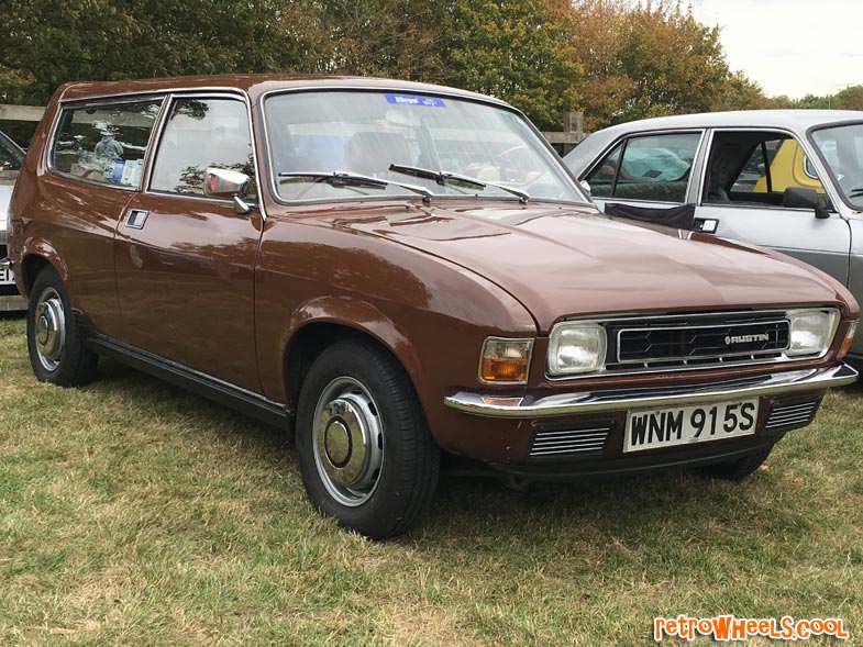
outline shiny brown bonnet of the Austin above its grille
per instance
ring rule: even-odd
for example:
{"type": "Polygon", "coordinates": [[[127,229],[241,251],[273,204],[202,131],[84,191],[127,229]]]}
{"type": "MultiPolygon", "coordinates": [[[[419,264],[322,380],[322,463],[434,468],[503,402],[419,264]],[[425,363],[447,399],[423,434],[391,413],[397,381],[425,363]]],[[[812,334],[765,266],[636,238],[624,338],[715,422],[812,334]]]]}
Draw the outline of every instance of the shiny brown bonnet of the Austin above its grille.
{"type": "Polygon", "coordinates": [[[589,208],[428,205],[339,219],[494,281],[543,332],[569,316],[839,303],[826,275],[754,247],[589,208]]]}

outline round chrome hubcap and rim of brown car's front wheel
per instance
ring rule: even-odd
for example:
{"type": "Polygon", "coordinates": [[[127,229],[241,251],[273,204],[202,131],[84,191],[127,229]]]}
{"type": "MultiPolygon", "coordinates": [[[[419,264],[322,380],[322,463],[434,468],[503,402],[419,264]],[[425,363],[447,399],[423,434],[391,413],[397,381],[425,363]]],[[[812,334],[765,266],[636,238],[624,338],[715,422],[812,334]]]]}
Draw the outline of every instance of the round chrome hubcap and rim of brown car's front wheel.
{"type": "Polygon", "coordinates": [[[384,466],[378,409],[353,378],[330,382],[314,410],[314,462],[329,493],[343,505],[365,503],[384,466]]]}

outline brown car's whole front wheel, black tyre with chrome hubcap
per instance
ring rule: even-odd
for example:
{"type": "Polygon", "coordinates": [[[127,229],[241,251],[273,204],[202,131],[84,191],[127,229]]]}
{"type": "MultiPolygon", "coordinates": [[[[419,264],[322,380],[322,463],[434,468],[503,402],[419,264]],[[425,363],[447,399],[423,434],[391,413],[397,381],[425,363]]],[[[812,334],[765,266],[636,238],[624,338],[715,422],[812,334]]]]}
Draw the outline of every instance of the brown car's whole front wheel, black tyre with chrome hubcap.
{"type": "Polygon", "coordinates": [[[438,486],[440,450],[389,353],[363,342],[321,353],[300,390],[296,431],[306,492],[323,515],[370,539],[419,522],[438,486]]]}

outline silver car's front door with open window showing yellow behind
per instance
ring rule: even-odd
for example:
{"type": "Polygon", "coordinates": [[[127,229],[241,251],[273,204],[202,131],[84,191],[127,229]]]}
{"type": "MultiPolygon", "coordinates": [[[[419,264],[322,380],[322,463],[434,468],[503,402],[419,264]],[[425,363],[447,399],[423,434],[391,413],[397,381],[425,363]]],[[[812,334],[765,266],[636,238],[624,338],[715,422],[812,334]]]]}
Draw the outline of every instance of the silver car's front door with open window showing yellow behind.
{"type": "Polygon", "coordinates": [[[711,133],[696,222],[717,236],[783,252],[848,285],[851,230],[839,213],[796,208],[789,189],[825,188],[793,134],[772,130],[711,133]]]}

